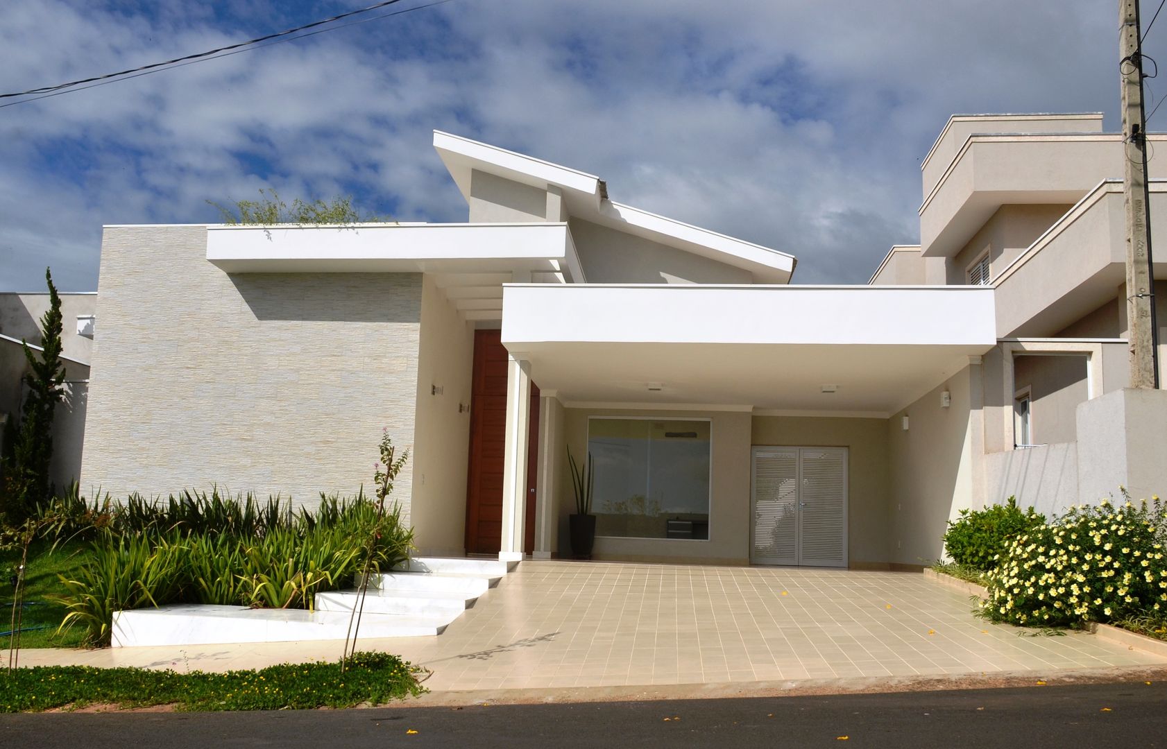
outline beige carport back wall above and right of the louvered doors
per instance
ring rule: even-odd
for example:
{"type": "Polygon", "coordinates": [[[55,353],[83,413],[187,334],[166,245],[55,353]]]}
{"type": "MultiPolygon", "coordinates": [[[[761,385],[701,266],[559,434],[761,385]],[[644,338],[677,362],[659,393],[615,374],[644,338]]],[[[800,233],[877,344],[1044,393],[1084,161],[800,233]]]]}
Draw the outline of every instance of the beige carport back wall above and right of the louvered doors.
{"type": "Polygon", "coordinates": [[[888,536],[887,419],[754,416],[753,444],[846,447],[847,562],[886,565],[888,536]]]}

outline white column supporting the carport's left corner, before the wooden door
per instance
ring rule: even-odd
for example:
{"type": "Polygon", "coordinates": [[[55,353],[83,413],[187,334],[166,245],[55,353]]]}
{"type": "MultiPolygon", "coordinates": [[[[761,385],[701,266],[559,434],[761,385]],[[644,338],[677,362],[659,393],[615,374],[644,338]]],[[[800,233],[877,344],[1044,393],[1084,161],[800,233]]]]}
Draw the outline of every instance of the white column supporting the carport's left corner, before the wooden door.
{"type": "Polygon", "coordinates": [[[526,450],[531,411],[530,364],[506,356],[506,442],[503,455],[503,538],[498,559],[523,561],[526,450]]]}

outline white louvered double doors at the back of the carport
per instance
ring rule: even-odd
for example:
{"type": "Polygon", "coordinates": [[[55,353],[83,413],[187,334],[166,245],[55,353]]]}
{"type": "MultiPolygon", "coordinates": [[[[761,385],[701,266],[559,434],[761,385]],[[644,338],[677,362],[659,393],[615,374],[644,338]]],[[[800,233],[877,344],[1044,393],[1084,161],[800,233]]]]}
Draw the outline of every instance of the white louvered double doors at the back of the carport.
{"type": "Polygon", "coordinates": [[[755,447],[749,561],[847,566],[847,448],[755,447]]]}

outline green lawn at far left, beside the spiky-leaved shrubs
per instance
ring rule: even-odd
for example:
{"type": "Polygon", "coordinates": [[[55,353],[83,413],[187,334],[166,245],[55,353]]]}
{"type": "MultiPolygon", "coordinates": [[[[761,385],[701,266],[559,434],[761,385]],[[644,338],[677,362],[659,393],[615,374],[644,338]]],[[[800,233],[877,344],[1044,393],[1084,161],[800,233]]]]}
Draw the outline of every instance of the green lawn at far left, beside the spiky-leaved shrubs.
{"type": "MultiPolygon", "coordinates": [[[[53,596],[63,593],[57,575],[72,575],[85,560],[88,544],[74,542],[58,547],[50,552],[51,544],[37,541],[28,551],[28,572],[25,575],[25,614],[22,628],[26,629],[20,636],[20,646],[23,648],[76,648],[81,645],[84,629],[75,626],[72,630],[57,635],[57,626],[64,618],[65,608],[51,600],[53,596]],[[42,629],[30,629],[42,628],[42,629]]],[[[4,579],[0,580],[0,632],[7,632],[12,628],[12,602],[13,588],[9,580],[9,566],[20,561],[20,553],[16,551],[0,553],[0,570],[4,570],[4,579]]],[[[5,635],[0,637],[0,650],[8,649],[12,637],[5,635]]]]}

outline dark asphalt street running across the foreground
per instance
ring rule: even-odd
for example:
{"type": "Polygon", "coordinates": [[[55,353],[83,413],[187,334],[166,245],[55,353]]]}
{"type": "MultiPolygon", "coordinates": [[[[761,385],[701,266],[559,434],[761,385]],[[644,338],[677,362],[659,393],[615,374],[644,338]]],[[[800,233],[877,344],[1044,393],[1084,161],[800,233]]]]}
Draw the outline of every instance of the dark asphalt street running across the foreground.
{"type": "Polygon", "coordinates": [[[1167,682],[275,713],[0,716],[0,747],[1167,747],[1167,682]]]}

